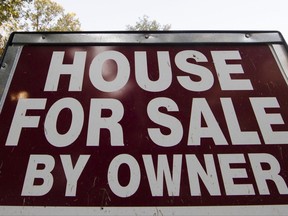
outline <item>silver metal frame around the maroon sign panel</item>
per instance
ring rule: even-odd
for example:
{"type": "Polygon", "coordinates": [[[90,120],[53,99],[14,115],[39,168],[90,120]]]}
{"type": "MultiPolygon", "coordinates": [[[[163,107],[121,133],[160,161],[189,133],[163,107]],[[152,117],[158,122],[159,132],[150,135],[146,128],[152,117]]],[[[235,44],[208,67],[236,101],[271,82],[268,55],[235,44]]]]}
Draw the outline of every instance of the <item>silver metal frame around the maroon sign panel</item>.
{"type": "MultiPolygon", "coordinates": [[[[25,46],[227,46],[237,44],[268,45],[288,85],[287,44],[281,33],[277,31],[15,32],[9,39],[1,62],[0,113],[25,46]]],[[[1,168],[2,164],[0,170],[1,168]]],[[[3,215],[286,215],[287,211],[288,202],[227,206],[0,206],[0,214],[3,215]]]]}

